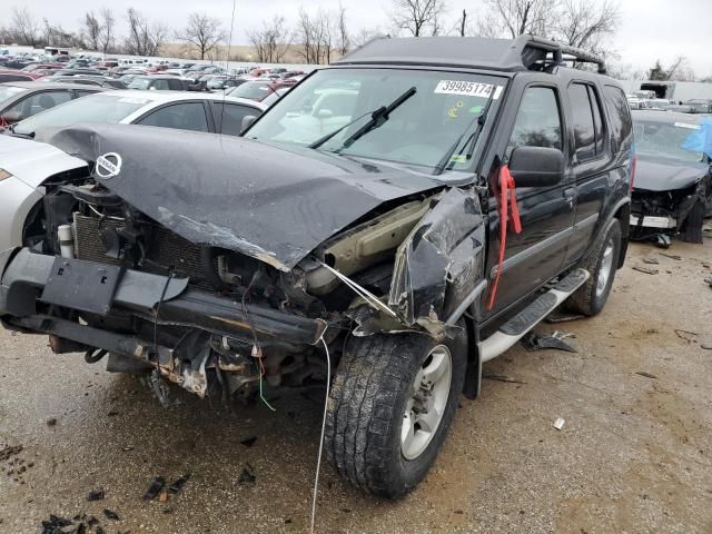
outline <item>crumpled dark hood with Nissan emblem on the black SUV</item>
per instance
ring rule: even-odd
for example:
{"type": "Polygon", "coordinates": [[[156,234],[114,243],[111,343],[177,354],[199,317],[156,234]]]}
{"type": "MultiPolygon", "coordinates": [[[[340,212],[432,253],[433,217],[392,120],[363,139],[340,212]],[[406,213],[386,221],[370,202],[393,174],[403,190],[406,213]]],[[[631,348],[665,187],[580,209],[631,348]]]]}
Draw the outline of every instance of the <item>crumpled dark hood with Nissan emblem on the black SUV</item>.
{"type": "Polygon", "coordinates": [[[165,128],[85,125],[48,142],[90,162],[118,155],[95,168],[98,182],[192,243],[281,270],[380,204],[442,187],[400,168],[165,128]]]}

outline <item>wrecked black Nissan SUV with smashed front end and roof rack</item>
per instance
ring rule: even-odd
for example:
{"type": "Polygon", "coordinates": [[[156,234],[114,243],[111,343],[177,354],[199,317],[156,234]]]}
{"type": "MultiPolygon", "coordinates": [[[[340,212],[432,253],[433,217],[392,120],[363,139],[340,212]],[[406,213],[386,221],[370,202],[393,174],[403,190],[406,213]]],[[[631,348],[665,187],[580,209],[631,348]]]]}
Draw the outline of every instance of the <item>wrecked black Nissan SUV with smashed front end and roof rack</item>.
{"type": "Polygon", "coordinates": [[[49,142],[87,166],[0,254],[6,327],[165,404],[166,383],[228,404],[330,384],[327,455],[379,496],[423,478],[484,362],[561,304],[600,313],[625,258],[625,95],[530,36],[370,41],[245,138],[49,142]]]}

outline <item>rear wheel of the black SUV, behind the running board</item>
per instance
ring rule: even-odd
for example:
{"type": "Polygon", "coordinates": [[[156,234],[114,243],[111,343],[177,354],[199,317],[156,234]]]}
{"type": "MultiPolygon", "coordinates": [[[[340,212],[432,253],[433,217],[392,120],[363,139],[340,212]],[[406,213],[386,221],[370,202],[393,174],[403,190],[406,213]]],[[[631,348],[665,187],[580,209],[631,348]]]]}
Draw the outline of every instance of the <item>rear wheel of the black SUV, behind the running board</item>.
{"type": "Polygon", "coordinates": [[[578,265],[591,277],[566,299],[566,309],[589,317],[601,313],[611,294],[620,254],[621,222],[614,218],[578,265]]]}

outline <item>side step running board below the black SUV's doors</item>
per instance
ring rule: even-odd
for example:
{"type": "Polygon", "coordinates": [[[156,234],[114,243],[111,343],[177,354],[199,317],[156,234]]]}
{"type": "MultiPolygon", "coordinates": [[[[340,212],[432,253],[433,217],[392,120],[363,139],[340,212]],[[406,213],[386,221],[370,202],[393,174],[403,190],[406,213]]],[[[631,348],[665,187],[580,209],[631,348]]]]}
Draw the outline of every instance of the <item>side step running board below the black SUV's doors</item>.
{"type": "Polygon", "coordinates": [[[497,332],[479,343],[479,362],[490,362],[511,348],[544,317],[551,314],[556,306],[578,289],[590,276],[585,269],[573,270],[556,286],[520,312],[518,315],[512,317],[497,332]]]}

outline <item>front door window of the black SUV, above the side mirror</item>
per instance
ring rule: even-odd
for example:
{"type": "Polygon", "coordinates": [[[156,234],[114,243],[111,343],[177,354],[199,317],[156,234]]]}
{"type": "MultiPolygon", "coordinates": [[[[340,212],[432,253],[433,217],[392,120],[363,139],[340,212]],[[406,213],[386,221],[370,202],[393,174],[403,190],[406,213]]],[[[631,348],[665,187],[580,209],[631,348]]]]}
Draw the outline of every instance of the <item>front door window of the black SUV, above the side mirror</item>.
{"type": "Polygon", "coordinates": [[[562,150],[561,112],[551,87],[530,87],[516,113],[506,158],[516,147],[548,147],[562,150]]]}

